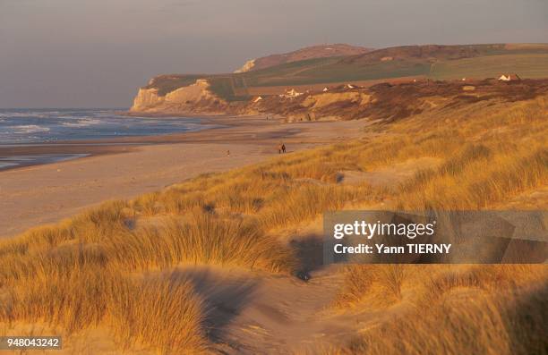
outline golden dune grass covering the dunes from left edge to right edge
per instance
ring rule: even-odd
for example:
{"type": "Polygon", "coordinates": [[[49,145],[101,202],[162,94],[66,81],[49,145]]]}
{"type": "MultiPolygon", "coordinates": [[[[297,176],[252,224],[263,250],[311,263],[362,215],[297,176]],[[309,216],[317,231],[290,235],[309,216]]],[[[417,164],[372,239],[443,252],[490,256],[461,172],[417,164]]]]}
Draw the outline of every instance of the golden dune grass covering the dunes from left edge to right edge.
{"type": "MultiPolygon", "coordinates": [[[[180,263],[294,273],[301,261],[280,231],[311,221],[322,211],[381,201],[387,208],[483,209],[546,186],[546,97],[514,103],[500,98],[457,106],[451,100],[441,103],[397,123],[373,127],[364,139],[203,175],[2,241],[0,321],[46,322],[61,326],[67,334],[99,325],[111,329],[120,347],[144,344],[158,352],[167,348],[176,353],[200,352],[207,347],[206,312],[192,285],[170,274],[180,263]],[[390,189],[366,182],[338,183],[341,171],[367,172],[421,156],[437,157],[442,164],[390,189]]],[[[532,207],[545,208],[545,203],[532,207]]],[[[398,304],[405,285],[415,284],[415,279],[383,267],[378,270],[380,281],[374,277],[372,281],[389,290],[390,297],[383,298],[388,306],[398,304]]],[[[445,274],[440,270],[432,278],[436,288],[429,283],[421,286],[427,298],[411,300],[418,305],[431,305],[433,298],[457,302],[451,310],[454,322],[440,317],[445,303],[436,303],[440,307],[422,309],[421,317],[404,313],[388,322],[387,330],[372,329],[341,351],[398,353],[408,347],[409,353],[448,349],[485,353],[496,343],[496,353],[509,354],[526,353],[527,342],[531,346],[542,342],[539,334],[544,329],[537,318],[522,322],[521,313],[509,312],[513,304],[526,308],[524,315],[545,311],[545,304],[536,301],[545,292],[545,266],[534,276],[530,269],[508,266],[473,270],[473,276],[465,273],[461,278],[458,270],[448,268],[449,280],[456,281],[441,283],[445,274]],[[503,290],[508,294],[498,292],[497,280],[506,280],[503,290]],[[456,288],[465,288],[465,295],[453,299],[456,288]],[[466,305],[467,300],[473,302],[464,308],[462,302],[466,305]],[[476,323],[478,317],[482,323],[476,323]],[[400,324],[420,329],[423,336],[415,337],[400,324]],[[466,329],[477,329],[477,324],[486,335],[469,342],[466,329]],[[501,329],[505,333],[497,335],[501,329]],[[441,330],[453,336],[448,335],[446,342],[428,336],[441,330]],[[390,336],[375,333],[383,331],[390,336]],[[372,339],[379,337],[383,342],[372,347],[372,339]],[[470,344],[475,348],[470,349],[470,344]]],[[[362,284],[369,274],[361,271],[348,270],[347,283],[336,300],[339,309],[360,304],[370,292],[369,283],[362,284]]],[[[415,266],[414,273],[423,280],[434,275],[424,266],[415,266]]]]}

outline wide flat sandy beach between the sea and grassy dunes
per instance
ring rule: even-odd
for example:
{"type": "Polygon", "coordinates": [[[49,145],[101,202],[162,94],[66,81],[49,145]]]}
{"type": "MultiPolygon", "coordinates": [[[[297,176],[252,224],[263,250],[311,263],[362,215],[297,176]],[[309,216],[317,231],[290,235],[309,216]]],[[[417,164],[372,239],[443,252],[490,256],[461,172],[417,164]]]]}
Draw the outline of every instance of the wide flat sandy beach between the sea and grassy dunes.
{"type": "Polygon", "coordinates": [[[278,156],[280,141],[288,154],[346,141],[357,137],[366,124],[282,123],[264,117],[216,117],[204,122],[221,127],[167,136],[0,148],[0,156],[90,154],[1,171],[0,238],[55,223],[108,199],[132,199],[200,173],[258,163],[278,156]]]}

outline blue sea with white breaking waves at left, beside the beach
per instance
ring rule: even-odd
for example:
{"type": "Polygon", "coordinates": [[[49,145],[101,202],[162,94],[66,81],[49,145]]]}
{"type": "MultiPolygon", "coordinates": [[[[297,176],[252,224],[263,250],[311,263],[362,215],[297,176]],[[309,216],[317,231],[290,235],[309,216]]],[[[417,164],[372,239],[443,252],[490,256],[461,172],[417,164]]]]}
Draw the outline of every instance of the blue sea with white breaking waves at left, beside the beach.
{"type": "MultiPolygon", "coordinates": [[[[65,140],[156,136],[209,128],[197,117],[136,117],[126,109],[0,109],[0,148],[65,140]]],[[[1,152],[1,150],[0,150],[1,152]]],[[[81,154],[2,156],[0,170],[78,158],[81,154]]]]}

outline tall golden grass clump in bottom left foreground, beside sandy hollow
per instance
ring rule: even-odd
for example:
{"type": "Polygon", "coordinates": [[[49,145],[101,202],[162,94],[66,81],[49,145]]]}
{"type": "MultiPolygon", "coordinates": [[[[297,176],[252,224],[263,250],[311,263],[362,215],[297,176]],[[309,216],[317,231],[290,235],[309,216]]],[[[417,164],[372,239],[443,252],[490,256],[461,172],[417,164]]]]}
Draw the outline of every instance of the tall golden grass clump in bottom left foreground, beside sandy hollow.
{"type": "Polygon", "coordinates": [[[121,348],[207,350],[202,302],[184,279],[122,273],[94,245],[67,245],[35,255],[29,266],[32,270],[25,269],[16,280],[4,278],[4,323],[60,326],[67,336],[104,326],[121,348]]]}

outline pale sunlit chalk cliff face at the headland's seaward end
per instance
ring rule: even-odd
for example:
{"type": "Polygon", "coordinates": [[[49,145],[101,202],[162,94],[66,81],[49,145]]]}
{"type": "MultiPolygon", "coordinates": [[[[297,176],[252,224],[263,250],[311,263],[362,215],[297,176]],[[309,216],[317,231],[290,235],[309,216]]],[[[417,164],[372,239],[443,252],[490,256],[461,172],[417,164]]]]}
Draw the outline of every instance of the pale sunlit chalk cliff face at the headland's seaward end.
{"type": "Polygon", "coordinates": [[[133,99],[132,114],[222,114],[227,102],[212,94],[208,80],[196,80],[192,85],[158,95],[156,88],[141,88],[133,99]]]}

